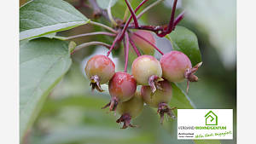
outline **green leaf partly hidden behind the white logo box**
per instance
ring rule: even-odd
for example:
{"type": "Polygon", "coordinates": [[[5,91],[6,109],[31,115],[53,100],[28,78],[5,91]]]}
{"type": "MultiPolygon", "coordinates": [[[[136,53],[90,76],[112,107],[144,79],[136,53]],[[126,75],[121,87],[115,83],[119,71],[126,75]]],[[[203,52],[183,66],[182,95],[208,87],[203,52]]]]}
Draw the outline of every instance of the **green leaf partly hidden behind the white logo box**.
{"type": "MultiPolygon", "coordinates": [[[[172,101],[170,103],[171,107],[177,107],[180,109],[193,109],[195,105],[190,101],[189,96],[180,89],[177,84],[172,83],[172,101]]],[[[177,114],[177,110],[175,110],[177,114]]],[[[177,127],[177,124],[175,124],[177,127]]],[[[171,128],[170,128],[171,129],[171,128]]],[[[177,130],[175,129],[177,133],[177,130]]],[[[218,140],[194,140],[195,144],[220,144],[218,140]]]]}

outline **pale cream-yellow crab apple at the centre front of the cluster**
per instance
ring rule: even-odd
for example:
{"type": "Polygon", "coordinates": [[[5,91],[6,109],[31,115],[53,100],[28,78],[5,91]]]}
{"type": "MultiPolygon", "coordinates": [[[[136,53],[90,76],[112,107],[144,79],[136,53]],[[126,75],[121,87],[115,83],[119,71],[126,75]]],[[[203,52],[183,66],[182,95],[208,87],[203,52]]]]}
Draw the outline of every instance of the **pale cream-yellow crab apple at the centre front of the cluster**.
{"type": "Polygon", "coordinates": [[[156,89],[160,89],[159,82],[163,80],[162,69],[159,60],[156,60],[154,56],[137,57],[132,63],[131,72],[137,84],[149,85],[153,93],[156,89]]]}

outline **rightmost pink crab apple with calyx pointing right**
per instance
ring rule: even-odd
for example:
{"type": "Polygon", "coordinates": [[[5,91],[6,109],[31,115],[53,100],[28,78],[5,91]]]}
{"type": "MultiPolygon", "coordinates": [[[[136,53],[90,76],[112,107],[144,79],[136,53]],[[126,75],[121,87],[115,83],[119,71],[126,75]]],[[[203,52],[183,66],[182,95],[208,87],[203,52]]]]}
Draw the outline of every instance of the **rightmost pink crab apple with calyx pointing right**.
{"type": "Polygon", "coordinates": [[[198,81],[194,73],[201,66],[202,62],[192,67],[191,61],[187,55],[184,55],[180,51],[173,50],[161,57],[160,64],[163,71],[163,78],[166,78],[168,81],[182,82],[186,78],[188,80],[188,92],[189,82],[198,81]]]}

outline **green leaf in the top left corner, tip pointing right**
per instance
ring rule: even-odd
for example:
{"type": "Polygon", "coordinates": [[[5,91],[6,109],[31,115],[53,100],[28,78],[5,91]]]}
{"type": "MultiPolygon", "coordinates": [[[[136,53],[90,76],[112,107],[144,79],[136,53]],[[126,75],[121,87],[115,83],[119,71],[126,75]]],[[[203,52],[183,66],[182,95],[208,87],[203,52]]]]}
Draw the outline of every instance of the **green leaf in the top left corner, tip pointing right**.
{"type": "Polygon", "coordinates": [[[20,40],[68,30],[89,21],[65,1],[33,0],[20,7],[20,40]]]}

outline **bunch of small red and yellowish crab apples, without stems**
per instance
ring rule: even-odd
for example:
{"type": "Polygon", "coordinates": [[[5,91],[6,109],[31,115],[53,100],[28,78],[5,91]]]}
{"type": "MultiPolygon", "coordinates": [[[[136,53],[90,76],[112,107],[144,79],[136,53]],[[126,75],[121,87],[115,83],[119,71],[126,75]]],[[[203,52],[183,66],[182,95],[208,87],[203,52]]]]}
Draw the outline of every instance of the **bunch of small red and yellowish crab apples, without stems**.
{"type": "MultiPolygon", "coordinates": [[[[150,32],[143,31],[143,37],[147,37],[147,35],[153,37],[150,32]]],[[[150,49],[154,50],[147,45],[148,43],[139,41],[137,37],[133,37],[133,40],[144,54],[147,54],[147,51],[151,53],[150,49]]],[[[124,123],[123,129],[125,129],[128,126],[134,127],[131,124],[131,118],[136,118],[142,112],[144,103],[149,107],[158,108],[160,123],[163,122],[165,113],[171,118],[175,118],[172,112],[174,108],[168,107],[168,103],[172,99],[171,82],[181,82],[185,78],[188,83],[197,81],[198,78],[194,73],[199,66],[201,63],[192,67],[187,55],[173,50],[164,54],[160,61],[152,55],[138,56],[132,62],[132,75],[127,72],[115,72],[113,61],[106,55],[95,55],[90,58],[84,71],[90,78],[92,89],[102,92],[101,84],[108,83],[111,100],[102,108],[109,107],[110,111],[117,110],[121,117],[116,122],[124,123]],[[137,85],[142,85],[139,92],[137,85]]]]}

